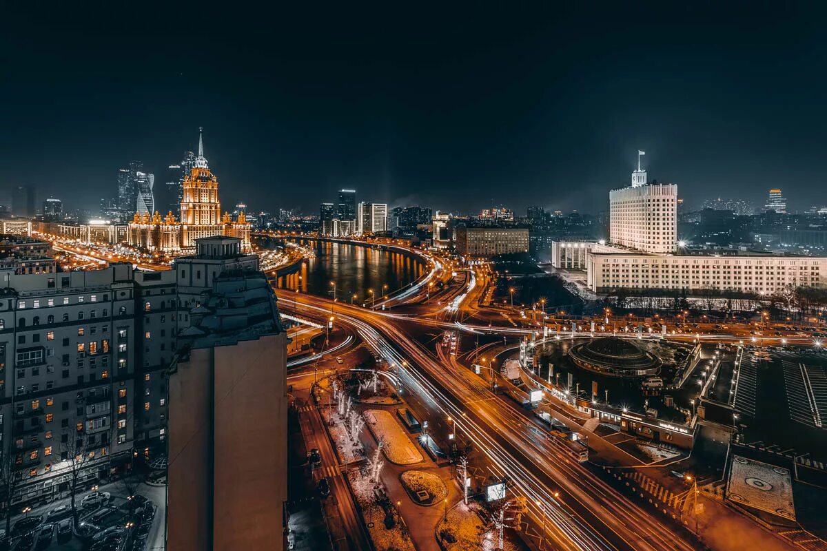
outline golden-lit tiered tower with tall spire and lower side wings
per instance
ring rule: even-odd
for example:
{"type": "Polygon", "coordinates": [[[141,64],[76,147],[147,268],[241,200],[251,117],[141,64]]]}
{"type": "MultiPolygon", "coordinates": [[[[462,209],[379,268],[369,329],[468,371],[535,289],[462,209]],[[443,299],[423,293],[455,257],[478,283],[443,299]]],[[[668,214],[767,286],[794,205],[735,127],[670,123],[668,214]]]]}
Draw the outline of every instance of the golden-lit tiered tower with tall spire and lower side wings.
{"type": "Polygon", "coordinates": [[[250,224],[247,224],[244,212],[238,215],[237,221],[232,221],[227,212],[221,214],[218,178],[204,158],[200,133],[198,157],[189,174],[184,176],[182,188],[181,219],[175,220],[172,211],[163,218],[158,211],[153,216],[136,212],[129,223],[129,245],[165,253],[189,253],[195,251],[195,240],[224,235],[241,239],[242,252],[251,250],[250,224]]]}

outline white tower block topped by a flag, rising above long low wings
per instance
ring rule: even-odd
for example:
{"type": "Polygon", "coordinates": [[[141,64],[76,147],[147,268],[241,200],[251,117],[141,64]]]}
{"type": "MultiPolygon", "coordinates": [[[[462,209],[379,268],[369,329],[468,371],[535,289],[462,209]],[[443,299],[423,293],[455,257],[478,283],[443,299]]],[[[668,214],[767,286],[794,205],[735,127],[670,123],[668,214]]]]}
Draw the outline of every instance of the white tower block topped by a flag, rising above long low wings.
{"type": "Polygon", "coordinates": [[[646,171],[632,173],[630,188],[609,192],[609,225],[614,245],[646,253],[674,253],[677,245],[677,186],[646,183],[646,171]]]}

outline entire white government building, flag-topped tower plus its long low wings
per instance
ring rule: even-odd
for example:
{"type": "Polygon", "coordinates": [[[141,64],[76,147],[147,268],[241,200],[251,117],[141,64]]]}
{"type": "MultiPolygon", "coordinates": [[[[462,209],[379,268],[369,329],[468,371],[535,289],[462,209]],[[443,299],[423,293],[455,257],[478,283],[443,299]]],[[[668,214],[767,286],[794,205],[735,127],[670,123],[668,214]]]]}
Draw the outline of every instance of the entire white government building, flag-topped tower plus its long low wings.
{"type": "Polygon", "coordinates": [[[632,186],[609,192],[609,244],[552,243],[552,265],[585,272],[592,292],[663,289],[751,292],[771,295],[792,284],[821,287],[827,258],[743,254],[681,255],[677,240],[677,185],[647,183],[632,173],[632,186]]]}

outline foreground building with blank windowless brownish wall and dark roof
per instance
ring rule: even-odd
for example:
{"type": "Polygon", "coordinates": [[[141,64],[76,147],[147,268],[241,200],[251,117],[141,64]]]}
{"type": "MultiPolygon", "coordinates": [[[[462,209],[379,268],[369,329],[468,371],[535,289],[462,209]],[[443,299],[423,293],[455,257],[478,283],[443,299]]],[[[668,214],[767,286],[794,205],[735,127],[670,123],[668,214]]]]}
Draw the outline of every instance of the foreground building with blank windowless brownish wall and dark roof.
{"type": "MultiPolygon", "coordinates": [[[[202,240],[203,259],[176,263],[178,278],[239,253],[237,240],[202,240]]],[[[275,294],[253,267],[203,276],[170,374],[167,549],[284,549],[287,335],[275,294]]]]}

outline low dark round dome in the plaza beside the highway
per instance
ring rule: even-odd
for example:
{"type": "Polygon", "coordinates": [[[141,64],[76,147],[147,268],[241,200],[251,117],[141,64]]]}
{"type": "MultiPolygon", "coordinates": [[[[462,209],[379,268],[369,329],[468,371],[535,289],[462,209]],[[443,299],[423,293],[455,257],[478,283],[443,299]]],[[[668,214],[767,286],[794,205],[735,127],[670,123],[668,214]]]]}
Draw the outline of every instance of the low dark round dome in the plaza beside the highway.
{"type": "Polygon", "coordinates": [[[617,337],[577,344],[568,354],[578,367],[610,377],[649,377],[661,368],[661,360],[655,354],[617,337]]]}

